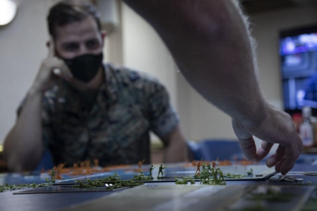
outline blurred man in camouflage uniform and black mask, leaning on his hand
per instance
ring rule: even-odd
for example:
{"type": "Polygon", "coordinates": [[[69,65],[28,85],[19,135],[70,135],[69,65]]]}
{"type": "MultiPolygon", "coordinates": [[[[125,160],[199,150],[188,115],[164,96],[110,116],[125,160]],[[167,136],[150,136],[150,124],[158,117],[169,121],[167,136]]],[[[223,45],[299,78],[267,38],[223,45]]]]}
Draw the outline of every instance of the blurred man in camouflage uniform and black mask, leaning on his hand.
{"type": "Polygon", "coordinates": [[[48,16],[49,55],[18,109],[5,140],[10,169],[36,167],[48,148],[55,164],[150,162],[149,132],[166,147],[166,162],[186,159],[178,116],[164,86],[124,67],[102,64],[105,32],[95,8],[62,1],[48,16]]]}

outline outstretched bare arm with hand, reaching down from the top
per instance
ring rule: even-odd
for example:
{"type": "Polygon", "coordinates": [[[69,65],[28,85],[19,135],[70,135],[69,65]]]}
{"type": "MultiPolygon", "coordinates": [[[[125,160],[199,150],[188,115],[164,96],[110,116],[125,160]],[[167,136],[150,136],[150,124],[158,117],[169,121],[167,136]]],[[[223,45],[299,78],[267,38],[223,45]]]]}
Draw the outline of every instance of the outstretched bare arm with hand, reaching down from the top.
{"type": "Polygon", "coordinates": [[[254,45],[234,0],[125,0],[159,33],[189,83],[233,118],[249,159],[286,174],[302,151],[290,116],[269,105],[259,88],[254,45]],[[253,135],[265,140],[256,152],[253,135]]]}

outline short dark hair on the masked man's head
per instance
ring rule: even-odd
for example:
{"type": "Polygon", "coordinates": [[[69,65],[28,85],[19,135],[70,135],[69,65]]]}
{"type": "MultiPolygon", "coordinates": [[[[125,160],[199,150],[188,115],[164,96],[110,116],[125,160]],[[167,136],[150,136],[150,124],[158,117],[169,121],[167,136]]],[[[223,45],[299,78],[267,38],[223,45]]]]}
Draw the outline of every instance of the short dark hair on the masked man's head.
{"type": "Polygon", "coordinates": [[[90,15],[94,17],[98,29],[101,30],[100,16],[93,3],[85,0],[61,1],[49,10],[49,15],[47,16],[49,34],[55,38],[56,26],[64,26],[81,21],[90,15]]]}

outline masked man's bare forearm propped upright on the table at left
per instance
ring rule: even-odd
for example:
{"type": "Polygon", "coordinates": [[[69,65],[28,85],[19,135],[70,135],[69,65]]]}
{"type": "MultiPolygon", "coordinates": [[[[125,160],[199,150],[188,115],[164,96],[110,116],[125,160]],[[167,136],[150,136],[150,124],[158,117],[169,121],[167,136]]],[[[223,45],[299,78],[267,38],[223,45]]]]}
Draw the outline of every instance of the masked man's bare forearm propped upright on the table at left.
{"type": "Polygon", "coordinates": [[[41,159],[42,146],[42,97],[30,90],[23,110],[4,142],[4,157],[10,170],[31,170],[41,159]]]}

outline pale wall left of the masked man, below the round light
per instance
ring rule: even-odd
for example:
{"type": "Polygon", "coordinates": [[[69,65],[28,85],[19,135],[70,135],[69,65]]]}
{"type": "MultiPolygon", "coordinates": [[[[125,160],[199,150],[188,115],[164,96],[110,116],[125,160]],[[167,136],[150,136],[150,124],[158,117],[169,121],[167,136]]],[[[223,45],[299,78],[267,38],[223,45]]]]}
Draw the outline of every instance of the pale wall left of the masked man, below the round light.
{"type": "Polygon", "coordinates": [[[45,17],[49,0],[24,0],[13,22],[0,28],[0,144],[15,111],[46,56],[45,17]]]}

